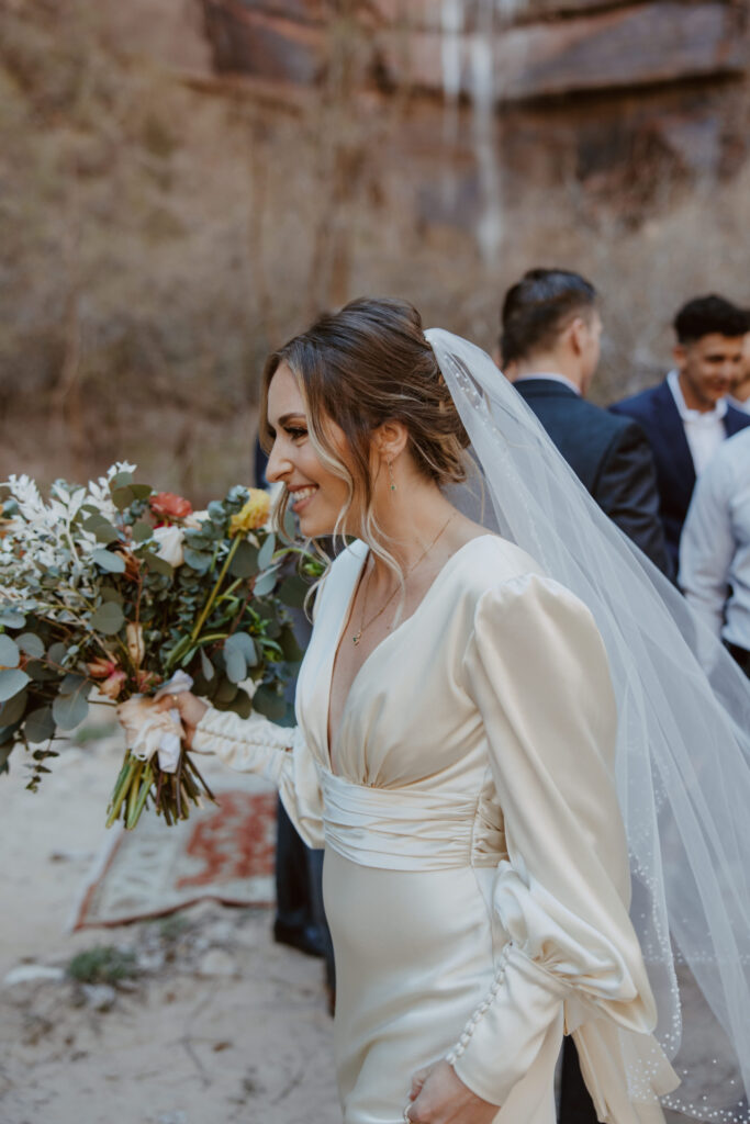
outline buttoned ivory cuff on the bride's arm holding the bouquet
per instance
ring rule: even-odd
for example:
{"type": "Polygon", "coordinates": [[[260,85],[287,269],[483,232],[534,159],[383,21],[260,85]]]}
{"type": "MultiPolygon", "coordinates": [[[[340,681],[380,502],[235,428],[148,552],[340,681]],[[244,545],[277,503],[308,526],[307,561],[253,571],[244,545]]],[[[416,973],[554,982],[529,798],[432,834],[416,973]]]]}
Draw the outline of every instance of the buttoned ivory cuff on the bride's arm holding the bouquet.
{"type": "Polygon", "coordinates": [[[260,714],[241,718],[231,710],[206,711],[196,727],[192,749],[214,753],[237,772],[254,772],[277,788],[289,768],[293,729],[277,726],[260,714]]]}

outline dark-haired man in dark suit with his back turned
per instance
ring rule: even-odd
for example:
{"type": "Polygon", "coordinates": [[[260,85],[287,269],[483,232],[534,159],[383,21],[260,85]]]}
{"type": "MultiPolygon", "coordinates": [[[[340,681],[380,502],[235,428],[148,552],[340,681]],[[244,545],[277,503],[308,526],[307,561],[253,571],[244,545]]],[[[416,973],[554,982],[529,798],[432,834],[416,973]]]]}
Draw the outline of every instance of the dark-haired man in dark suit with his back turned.
{"type": "Polygon", "coordinates": [[[635,423],[585,400],[600,334],[589,281],[530,270],[503,302],[501,365],[603,511],[671,575],[649,444],[635,423]]]}

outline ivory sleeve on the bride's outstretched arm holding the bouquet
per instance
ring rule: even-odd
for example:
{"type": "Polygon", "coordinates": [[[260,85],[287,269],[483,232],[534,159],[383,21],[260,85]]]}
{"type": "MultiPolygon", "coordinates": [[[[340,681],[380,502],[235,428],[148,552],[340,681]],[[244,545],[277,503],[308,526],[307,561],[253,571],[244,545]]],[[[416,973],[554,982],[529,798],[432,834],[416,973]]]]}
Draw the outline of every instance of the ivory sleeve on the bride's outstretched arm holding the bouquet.
{"type": "Polygon", "coordinates": [[[318,769],[300,726],[277,726],[259,714],[241,718],[209,707],[196,728],[192,747],[197,753],[215,753],[238,772],[270,780],[308,846],[323,846],[318,769]]]}

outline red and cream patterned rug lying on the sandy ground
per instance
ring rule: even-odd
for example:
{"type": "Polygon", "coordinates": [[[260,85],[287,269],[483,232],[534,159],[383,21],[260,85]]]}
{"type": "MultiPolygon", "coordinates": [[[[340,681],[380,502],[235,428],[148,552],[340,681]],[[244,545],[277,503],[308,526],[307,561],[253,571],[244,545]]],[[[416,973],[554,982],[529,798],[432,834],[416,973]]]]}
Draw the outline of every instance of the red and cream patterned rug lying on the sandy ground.
{"type": "Polygon", "coordinates": [[[124,925],[201,898],[272,905],[275,791],[222,787],[216,797],[174,827],[146,813],[135,831],[108,832],[70,927],[124,925]]]}

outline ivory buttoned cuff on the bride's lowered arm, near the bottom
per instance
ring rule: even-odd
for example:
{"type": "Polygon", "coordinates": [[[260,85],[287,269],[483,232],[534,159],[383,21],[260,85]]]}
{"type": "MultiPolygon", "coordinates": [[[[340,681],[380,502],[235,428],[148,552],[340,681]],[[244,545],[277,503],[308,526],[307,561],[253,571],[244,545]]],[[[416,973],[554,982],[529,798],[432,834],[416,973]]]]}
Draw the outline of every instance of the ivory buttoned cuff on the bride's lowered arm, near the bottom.
{"type": "Polygon", "coordinates": [[[503,1105],[528,1071],[569,988],[513,944],[506,945],[491,987],[448,1054],[472,1093],[503,1105]]]}

